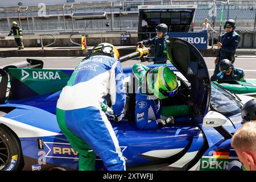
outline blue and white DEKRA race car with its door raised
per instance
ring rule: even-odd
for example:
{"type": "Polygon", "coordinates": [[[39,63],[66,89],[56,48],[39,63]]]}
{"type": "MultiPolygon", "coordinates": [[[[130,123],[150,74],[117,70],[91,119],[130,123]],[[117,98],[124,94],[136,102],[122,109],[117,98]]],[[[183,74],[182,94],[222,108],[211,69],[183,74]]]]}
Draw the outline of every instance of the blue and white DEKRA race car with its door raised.
{"type": "MultiPolygon", "coordinates": [[[[112,121],[110,115],[108,118],[126,159],[126,168],[223,170],[230,161],[237,160],[230,140],[241,126],[242,102],[218,84],[211,84],[204,58],[192,44],[169,38],[167,53],[172,64],[166,66],[177,75],[179,94],[162,101],[162,105],[187,104],[192,112],[176,117],[175,126],[138,130],[135,123],[138,80],[131,68],[124,68],[125,116],[121,122],[112,121]]],[[[156,66],[159,64],[149,65],[156,66]]],[[[61,133],[55,115],[57,99],[72,72],[72,69],[9,68],[10,92],[6,94],[8,76],[1,71],[4,91],[1,96],[5,96],[0,105],[1,170],[78,169],[79,154],[61,133]]],[[[108,96],[105,100],[109,104],[108,96]]],[[[250,97],[243,97],[246,100],[250,97]]],[[[100,158],[96,159],[96,169],[106,169],[100,158]]]]}

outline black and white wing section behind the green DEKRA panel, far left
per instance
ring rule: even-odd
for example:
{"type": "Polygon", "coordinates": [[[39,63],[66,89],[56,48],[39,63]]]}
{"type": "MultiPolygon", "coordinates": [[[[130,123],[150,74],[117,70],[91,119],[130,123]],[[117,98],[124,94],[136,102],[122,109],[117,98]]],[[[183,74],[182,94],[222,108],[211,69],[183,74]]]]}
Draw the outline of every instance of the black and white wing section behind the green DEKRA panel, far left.
{"type": "Polygon", "coordinates": [[[9,68],[43,68],[43,61],[36,59],[27,59],[27,61],[20,61],[14,64],[7,64],[0,67],[0,104],[4,104],[6,96],[10,94],[10,88],[8,87],[9,68]]]}

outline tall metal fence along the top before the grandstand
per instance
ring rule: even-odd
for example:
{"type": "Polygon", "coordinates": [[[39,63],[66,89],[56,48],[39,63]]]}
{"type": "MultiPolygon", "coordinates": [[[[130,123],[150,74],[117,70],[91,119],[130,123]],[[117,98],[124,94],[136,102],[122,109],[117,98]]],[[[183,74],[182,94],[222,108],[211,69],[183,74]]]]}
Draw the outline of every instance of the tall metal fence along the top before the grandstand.
{"type": "MultiPolygon", "coordinates": [[[[23,33],[42,32],[108,32],[138,30],[139,5],[170,5],[171,1],[123,1],[118,3],[80,3],[64,5],[19,6],[0,8],[0,32],[7,34],[11,23],[15,20],[22,27],[23,33]],[[75,20],[72,13],[106,11],[108,19],[75,20]],[[106,23],[109,26],[106,27],[106,23]]],[[[174,3],[177,3],[176,1],[174,3]]],[[[183,2],[181,1],[180,4],[183,2]]],[[[192,1],[187,3],[193,3],[192,1]]],[[[249,6],[218,5],[214,27],[219,26],[220,8],[224,8],[224,21],[228,18],[236,19],[237,30],[254,30],[255,9],[249,6]],[[229,9],[228,9],[229,7],[229,9]]],[[[195,29],[200,30],[204,18],[212,19],[210,7],[198,6],[195,15],[195,29]],[[204,7],[204,9],[202,9],[204,7]]]]}

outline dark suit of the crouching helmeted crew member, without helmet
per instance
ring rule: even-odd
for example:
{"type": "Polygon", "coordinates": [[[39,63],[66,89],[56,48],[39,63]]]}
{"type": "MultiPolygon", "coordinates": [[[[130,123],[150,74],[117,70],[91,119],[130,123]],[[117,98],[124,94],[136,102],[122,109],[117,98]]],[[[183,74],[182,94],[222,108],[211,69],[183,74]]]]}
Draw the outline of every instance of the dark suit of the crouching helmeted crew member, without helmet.
{"type": "Polygon", "coordinates": [[[226,75],[225,73],[218,73],[217,80],[237,80],[237,81],[246,81],[245,73],[243,73],[242,69],[234,68],[230,75],[226,75]]]}

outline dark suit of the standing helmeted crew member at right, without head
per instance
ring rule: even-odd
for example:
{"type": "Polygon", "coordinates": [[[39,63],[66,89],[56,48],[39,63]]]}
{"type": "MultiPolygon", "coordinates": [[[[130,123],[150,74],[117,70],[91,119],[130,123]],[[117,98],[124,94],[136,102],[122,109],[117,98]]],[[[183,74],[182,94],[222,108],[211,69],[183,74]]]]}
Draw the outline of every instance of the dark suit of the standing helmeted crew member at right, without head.
{"type": "Polygon", "coordinates": [[[218,68],[218,63],[222,59],[228,59],[232,62],[232,64],[235,61],[235,53],[238,44],[240,43],[241,37],[237,34],[236,31],[231,31],[229,33],[225,33],[221,36],[221,43],[222,46],[218,50],[218,62],[215,65],[215,69],[213,72],[213,76],[210,78],[211,81],[216,81],[217,74],[220,73],[220,69],[218,68]]]}

